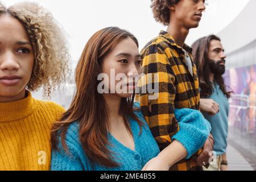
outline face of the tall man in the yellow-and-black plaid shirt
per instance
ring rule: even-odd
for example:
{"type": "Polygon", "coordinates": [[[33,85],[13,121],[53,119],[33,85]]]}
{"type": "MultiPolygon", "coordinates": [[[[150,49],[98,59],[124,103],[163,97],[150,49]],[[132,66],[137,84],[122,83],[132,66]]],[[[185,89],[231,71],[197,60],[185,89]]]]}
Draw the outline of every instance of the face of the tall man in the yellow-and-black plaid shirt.
{"type": "Polygon", "coordinates": [[[177,22],[182,26],[190,29],[199,26],[201,16],[205,10],[205,0],[181,0],[175,5],[175,13],[177,22]]]}

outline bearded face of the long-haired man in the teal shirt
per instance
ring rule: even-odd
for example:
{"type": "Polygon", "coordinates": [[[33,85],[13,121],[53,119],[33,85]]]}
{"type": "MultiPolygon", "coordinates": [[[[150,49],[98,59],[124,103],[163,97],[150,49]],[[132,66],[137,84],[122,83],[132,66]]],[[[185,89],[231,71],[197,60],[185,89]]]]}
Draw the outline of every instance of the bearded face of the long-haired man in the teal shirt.
{"type": "Polygon", "coordinates": [[[220,41],[210,41],[208,52],[210,71],[215,75],[223,75],[225,73],[225,58],[224,48],[220,41]]]}

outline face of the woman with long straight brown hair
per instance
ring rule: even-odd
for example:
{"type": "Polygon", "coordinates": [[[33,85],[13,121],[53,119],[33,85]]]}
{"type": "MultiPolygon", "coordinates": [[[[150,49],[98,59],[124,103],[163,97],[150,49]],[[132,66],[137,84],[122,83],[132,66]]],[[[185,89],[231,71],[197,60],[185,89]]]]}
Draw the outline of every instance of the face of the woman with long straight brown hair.
{"type": "Polygon", "coordinates": [[[134,40],[126,38],[115,46],[102,62],[108,91],[122,98],[131,97],[141,72],[141,55],[134,40]]]}

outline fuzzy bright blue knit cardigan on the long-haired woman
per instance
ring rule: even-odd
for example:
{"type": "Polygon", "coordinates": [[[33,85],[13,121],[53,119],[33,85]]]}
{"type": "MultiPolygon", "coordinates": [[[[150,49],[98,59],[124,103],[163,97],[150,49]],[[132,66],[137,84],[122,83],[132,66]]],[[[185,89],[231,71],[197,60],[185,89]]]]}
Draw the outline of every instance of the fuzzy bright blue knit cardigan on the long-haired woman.
{"type": "MultiPolygon", "coordinates": [[[[139,107],[135,103],[134,107],[139,107]]],[[[109,150],[112,151],[113,160],[118,163],[118,167],[109,168],[91,162],[82,149],[79,140],[79,122],[73,122],[67,131],[65,142],[69,153],[64,151],[61,142],[59,150],[52,151],[51,170],[53,171],[139,171],[152,158],[159,154],[158,144],[143,117],[142,111],[134,111],[137,117],[143,121],[141,135],[140,128],[132,118],[128,118],[131,131],[133,133],[135,150],[127,148],[118,142],[110,133],[108,134],[109,150]]],[[[180,130],[172,137],[178,140],[187,150],[187,158],[195,154],[197,150],[203,147],[205,140],[210,133],[209,122],[206,121],[200,111],[192,109],[177,109],[175,117],[179,121],[180,130]]],[[[59,138],[60,139],[60,138],[59,138]]],[[[171,154],[170,154],[171,155],[171,154]]]]}

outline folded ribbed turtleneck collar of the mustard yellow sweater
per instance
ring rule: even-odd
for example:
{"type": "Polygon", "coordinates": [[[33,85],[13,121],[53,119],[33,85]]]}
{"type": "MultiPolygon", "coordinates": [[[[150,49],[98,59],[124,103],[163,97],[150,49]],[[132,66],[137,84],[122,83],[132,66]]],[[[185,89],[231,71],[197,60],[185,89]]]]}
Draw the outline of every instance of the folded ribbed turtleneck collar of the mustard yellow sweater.
{"type": "Polygon", "coordinates": [[[18,121],[27,118],[35,109],[35,99],[26,91],[27,97],[14,102],[0,102],[0,122],[18,121]]]}

